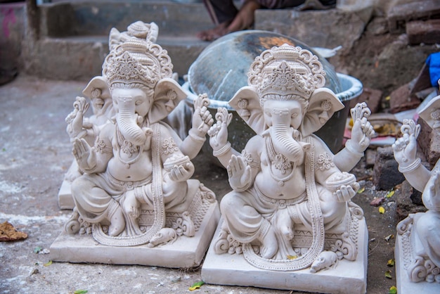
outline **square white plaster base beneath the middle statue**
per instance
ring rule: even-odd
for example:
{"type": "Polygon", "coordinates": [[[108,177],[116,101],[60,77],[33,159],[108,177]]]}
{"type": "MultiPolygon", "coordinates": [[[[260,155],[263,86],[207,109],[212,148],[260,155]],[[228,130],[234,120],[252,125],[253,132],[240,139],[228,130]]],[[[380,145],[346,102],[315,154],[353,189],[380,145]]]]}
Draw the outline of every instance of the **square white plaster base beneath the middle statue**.
{"type": "MultiPolygon", "coordinates": [[[[218,228],[221,228],[221,219],[218,228]]],[[[219,229],[214,238],[219,236],[219,229]]],[[[214,244],[214,242],[212,242],[214,244]]],[[[310,268],[299,271],[270,271],[249,264],[242,254],[217,255],[209,247],[202,266],[205,283],[253,286],[280,290],[318,293],[365,293],[367,288],[368,230],[362,219],[358,229],[358,257],[354,261],[339,260],[335,269],[313,274],[310,268]]]]}

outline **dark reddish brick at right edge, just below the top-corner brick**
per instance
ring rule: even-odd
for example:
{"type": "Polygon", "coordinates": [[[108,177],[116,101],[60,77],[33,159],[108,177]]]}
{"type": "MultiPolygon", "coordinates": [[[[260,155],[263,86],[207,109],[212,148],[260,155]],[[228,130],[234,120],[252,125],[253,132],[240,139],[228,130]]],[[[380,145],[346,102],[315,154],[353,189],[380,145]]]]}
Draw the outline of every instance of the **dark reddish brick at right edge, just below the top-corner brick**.
{"type": "Polygon", "coordinates": [[[410,45],[440,43],[440,19],[411,21],[406,24],[406,34],[410,45]]]}

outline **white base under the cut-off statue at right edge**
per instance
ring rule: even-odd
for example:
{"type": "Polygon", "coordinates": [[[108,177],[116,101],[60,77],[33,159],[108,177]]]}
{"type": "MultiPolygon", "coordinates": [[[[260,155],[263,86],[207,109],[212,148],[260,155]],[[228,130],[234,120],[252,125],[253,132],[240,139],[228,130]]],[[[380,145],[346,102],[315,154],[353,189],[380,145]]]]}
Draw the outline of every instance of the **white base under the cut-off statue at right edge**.
{"type": "Polygon", "coordinates": [[[397,293],[399,294],[438,294],[440,293],[440,283],[428,283],[422,281],[419,283],[413,283],[408,278],[408,273],[403,266],[405,264],[404,258],[410,256],[408,253],[403,252],[403,236],[397,234],[396,246],[394,248],[394,257],[396,258],[396,280],[397,280],[397,293]]]}

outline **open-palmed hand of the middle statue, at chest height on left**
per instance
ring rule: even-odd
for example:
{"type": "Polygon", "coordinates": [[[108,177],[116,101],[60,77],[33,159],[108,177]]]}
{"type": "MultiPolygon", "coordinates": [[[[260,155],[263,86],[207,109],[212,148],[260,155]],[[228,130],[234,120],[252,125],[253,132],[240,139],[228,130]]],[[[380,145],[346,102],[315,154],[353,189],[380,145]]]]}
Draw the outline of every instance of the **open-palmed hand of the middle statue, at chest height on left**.
{"type": "Polygon", "coordinates": [[[242,156],[232,155],[226,170],[229,184],[235,191],[245,191],[250,186],[251,168],[242,156]]]}

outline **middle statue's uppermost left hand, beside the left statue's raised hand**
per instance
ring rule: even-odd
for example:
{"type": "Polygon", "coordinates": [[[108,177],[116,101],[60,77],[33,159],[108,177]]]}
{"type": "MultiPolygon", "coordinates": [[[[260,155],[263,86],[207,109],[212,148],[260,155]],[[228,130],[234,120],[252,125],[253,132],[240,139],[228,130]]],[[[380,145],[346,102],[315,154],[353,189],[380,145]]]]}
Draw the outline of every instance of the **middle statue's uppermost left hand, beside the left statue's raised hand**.
{"type": "Polygon", "coordinates": [[[216,123],[208,131],[209,145],[218,151],[228,143],[228,125],[232,120],[232,113],[226,108],[219,108],[215,115],[216,123]]]}

